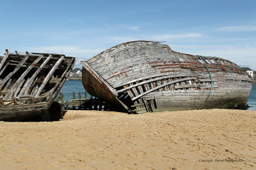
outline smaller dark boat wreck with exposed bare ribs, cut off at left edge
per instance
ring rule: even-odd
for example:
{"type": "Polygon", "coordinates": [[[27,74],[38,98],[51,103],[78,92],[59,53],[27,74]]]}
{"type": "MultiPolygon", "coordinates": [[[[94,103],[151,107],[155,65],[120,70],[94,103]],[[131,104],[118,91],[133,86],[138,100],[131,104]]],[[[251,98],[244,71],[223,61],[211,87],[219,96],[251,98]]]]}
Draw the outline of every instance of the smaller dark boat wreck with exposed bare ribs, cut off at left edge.
{"type": "Polygon", "coordinates": [[[54,102],[76,60],[51,53],[10,53],[0,59],[0,120],[20,121],[51,112],[54,102]]]}

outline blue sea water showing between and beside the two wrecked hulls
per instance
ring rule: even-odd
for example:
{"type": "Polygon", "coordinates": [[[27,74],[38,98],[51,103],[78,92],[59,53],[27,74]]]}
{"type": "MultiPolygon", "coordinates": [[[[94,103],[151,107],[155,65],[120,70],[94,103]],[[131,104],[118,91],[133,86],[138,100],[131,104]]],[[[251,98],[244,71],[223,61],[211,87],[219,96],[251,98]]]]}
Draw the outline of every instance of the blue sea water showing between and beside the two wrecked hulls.
{"type": "MultiPolygon", "coordinates": [[[[81,92],[82,98],[84,98],[84,87],[82,80],[67,80],[65,81],[61,92],[64,94],[64,100],[67,101],[73,98],[73,91],[76,92],[76,99],[78,99],[78,93],[81,92]]],[[[90,94],[87,94],[90,97],[90,94]]],[[[248,110],[256,110],[256,85],[253,85],[250,96],[248,97],[248,110]]]]}

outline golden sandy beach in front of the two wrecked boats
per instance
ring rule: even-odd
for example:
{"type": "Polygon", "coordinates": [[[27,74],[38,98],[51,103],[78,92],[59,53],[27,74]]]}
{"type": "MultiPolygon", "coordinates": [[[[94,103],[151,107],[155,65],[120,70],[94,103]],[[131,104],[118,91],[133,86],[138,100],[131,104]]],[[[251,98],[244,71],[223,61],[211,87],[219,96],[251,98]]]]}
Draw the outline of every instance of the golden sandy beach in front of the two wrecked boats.
{"type": "Polygon", "coordinates": [[[1,169],[255,169],[256,111],[67,111],[0,122],[1,169]]]}

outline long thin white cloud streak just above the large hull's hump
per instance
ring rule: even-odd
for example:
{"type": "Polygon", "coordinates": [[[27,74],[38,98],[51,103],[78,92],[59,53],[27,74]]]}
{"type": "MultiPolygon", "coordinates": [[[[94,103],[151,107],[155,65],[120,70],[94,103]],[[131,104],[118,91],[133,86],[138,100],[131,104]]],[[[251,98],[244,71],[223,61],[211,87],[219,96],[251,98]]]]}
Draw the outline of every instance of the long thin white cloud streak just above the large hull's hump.
{"type": "Polygon", "coordinates": [[[151,36],[152,39],[161,41],[167,39],[179,39],[179,38],[200,38],[202,34],[200,33],[189,33],[189,34],[165,34],[159,36],[151,36]]]}

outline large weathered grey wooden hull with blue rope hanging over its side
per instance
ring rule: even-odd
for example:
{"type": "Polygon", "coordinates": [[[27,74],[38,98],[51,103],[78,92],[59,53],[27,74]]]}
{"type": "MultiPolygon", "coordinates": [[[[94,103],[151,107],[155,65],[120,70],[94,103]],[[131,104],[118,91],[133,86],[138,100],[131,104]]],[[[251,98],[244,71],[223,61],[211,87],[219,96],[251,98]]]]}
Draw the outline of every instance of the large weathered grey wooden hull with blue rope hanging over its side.
{"type": "Polygon", "coordinates": [[[153,41],[123,43],[83,65],[93,96],[133,113],[246,104],[252,78],[233,62],[174,52],[153,41]]]}

